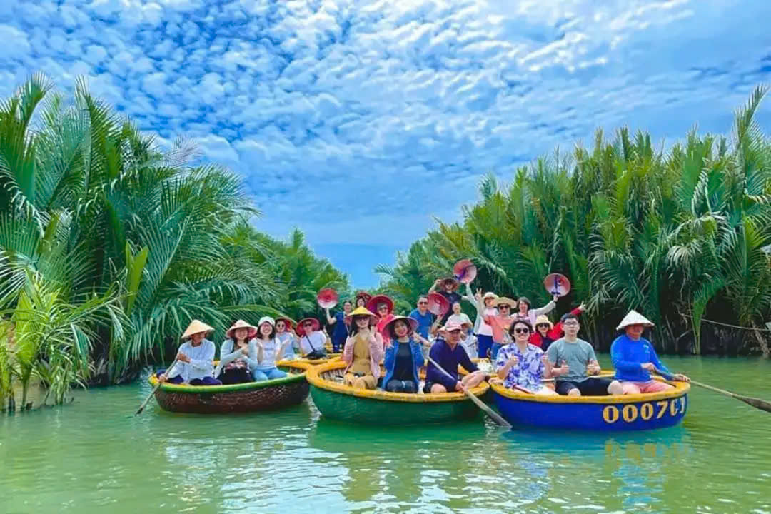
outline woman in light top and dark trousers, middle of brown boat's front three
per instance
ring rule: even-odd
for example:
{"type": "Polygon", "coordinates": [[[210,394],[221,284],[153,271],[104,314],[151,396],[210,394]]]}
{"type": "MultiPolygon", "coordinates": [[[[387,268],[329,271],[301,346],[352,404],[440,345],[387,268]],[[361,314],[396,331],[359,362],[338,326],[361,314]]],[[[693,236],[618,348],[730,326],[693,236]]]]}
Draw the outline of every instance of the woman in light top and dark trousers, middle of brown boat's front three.
{"type": "Polygon", "coordinates": [[[223,384],[251,382],[252,369],[257,366],[257,327],[244,320],[236,321],[225,332],[225,341],[220,347],[220,364],[214,376],[223,384]]]}

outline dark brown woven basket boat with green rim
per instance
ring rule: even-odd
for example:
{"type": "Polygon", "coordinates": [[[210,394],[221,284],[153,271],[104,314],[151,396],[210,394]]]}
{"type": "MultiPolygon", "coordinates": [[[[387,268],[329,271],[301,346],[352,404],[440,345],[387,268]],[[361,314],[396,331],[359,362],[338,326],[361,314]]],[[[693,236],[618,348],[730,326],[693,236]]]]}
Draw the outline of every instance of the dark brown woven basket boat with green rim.
{"type": "MultiPolygon", "coordinates": [[[[298,361],[278,361],[277,366],[289,375],[233,385],[163,384],[155,399],[164,411],[196,414],[269,411],[301,403],[308,396],[305,373],[310,366],[298,361]]],[[[155,375],[149,381],[158,384],[155,375]]]]}

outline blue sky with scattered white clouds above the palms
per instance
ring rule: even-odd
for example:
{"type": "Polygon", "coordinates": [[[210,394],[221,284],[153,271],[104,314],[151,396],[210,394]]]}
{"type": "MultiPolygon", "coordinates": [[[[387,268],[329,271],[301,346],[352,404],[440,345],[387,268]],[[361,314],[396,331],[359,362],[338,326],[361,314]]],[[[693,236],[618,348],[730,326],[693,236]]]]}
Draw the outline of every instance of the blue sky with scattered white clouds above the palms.
{"type": "Polygon", "coordinates": [[[241,173],[261,230],[301,228],[371,286],[488,171],[598,126],[729,130],[769,80],[768,19],[761,0],[0,0],[0,93],[87,76],[241,173]]]}

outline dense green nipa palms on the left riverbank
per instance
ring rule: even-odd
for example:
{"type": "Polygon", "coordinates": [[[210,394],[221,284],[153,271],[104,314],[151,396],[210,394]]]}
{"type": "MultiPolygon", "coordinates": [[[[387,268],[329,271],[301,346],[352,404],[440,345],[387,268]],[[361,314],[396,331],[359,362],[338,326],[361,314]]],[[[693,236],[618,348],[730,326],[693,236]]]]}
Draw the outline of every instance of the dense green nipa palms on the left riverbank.
{"type": "Polygon", "coordinates": [[[33,76],[0,104],[0,405],[21,389],[27,408],[32,381],[53,403],[131,381],[193,317],[219,340],[239,317],[297,318],[318,289],[348,290],[298,231],[254,230],[259,214],[190,142],[160,149],[85,82],[68,102],[33,76]]]}

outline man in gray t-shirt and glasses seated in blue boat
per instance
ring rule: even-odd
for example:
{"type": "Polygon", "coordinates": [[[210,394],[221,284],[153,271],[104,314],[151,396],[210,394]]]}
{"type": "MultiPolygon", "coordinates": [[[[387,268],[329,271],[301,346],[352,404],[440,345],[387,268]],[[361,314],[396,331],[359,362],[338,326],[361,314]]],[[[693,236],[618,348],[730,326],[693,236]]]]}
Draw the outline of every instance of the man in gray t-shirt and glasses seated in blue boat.
{"type": "Polygon", "coordinates": [[[589,376],[597,375],[600,365],[591,344],[578,338],[578,317],[565,314],[561,321],[565,337],[550,344],[546,352],[547,375],[556,378],[557,392],[568,396],[622,395],[618,380],[589,376]]]}

